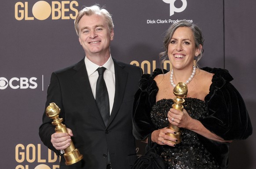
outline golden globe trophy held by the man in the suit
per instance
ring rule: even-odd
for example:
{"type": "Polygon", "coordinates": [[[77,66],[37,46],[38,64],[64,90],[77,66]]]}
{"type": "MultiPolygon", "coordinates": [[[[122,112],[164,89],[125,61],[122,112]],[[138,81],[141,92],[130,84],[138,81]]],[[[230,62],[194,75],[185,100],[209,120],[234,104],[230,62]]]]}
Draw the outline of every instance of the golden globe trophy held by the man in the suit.
{"type": "MultiPolygon", "coordinates": [[[[62,124],[62,118],[59,118],[60,109],[55,103],[50,103],[45,113],[50,119],[53,119],[52,124],[55,125],[55,131],[57,133],[68,133],[65,124],[62,124]]],[[[80,152],[71,141],[69,147],[64,150],[64,158],[66,160],[65,164],[71,165],[79,162],[83,158],[83,155],[80,155],[80,152]]]]}

